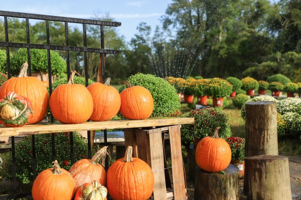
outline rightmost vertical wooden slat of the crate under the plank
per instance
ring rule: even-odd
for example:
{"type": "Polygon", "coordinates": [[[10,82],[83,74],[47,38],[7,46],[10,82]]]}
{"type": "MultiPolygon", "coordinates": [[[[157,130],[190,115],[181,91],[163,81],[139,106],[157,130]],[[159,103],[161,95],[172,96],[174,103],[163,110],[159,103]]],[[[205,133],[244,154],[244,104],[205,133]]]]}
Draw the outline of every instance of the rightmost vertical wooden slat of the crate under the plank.
{"type": "Polygon", "coordinates": [[[175,200],[186,199],[186,183],[181,149],[180,126],[170,126],[171,157],[175,200]]]}

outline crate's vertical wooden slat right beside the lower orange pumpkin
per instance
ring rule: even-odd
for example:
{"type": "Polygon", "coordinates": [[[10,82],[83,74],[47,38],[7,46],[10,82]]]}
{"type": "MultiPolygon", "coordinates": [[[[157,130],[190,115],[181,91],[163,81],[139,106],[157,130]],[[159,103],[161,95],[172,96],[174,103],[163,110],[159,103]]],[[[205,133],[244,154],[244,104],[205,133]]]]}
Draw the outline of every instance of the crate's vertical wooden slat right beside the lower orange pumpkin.
{"type": "Polygon", "coordinates": [[[155,177],[154,199],[166,200],[167,190],[165,184],[162,132],[158,128],[149,130],[148,134],[151,167],[155,177]]]}

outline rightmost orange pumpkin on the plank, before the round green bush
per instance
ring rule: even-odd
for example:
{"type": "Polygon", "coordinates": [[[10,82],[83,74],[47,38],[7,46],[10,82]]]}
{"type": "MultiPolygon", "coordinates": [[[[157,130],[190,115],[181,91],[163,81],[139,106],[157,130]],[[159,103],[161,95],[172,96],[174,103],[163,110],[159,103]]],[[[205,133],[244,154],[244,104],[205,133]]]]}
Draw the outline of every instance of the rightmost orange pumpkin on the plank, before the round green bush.
{"type": "Polygon", "coordinates": [[[121,114],[129,119],[146,119],[154,110],[152,94],[142,86],[131,86],[128,81],[124,82],[126,89],[121,91],[121,114]]]}

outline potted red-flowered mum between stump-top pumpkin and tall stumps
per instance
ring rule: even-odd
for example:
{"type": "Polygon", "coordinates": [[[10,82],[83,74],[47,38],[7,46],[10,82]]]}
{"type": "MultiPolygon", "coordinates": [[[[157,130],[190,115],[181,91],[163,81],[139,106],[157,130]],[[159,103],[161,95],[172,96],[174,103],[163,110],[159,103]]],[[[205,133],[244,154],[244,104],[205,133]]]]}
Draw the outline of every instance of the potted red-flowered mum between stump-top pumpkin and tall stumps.
{"type": "Polygon", "coordinates": [[[227,137],[226,140],[232,152],[231,163],[239,168],[239,175],[243,176],[245,139],[241,137],[227,137]]]}

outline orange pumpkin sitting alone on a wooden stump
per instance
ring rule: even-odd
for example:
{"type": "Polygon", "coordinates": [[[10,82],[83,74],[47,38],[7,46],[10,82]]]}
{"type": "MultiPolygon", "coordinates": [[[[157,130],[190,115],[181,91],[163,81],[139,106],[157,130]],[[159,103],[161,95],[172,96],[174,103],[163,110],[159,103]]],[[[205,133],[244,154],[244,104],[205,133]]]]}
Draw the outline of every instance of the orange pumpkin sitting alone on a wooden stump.
{"type": "Polygon", "coordinates": [[[231,161],[231,148],[226,140],[218,136],[216,127],[214,135],[204,137],[196,148],[198,166],[209,172],[217,172],[227,168],[231,161]]]}

